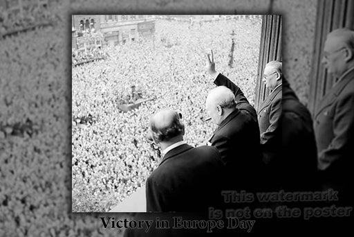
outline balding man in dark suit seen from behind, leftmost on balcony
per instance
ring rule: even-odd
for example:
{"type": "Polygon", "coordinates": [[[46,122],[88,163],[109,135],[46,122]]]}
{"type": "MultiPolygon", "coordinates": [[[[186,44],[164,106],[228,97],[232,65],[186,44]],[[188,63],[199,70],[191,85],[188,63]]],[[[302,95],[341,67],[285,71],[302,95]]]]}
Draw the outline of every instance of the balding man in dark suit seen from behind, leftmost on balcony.
{"type": "Polygon", "coordinates": [[[182,116],[170,109],[153,114],[149,133],[163,157],[146,182],[147,211],[205,211],[223,204],[225,167],[217,148],[183,141],[182,116]]]}

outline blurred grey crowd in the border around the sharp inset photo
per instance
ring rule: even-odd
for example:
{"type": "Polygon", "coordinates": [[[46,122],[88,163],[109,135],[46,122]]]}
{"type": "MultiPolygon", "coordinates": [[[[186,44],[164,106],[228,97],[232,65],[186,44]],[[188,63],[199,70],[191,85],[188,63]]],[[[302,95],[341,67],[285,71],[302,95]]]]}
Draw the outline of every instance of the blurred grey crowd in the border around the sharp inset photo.
{"type": "MultiPolygon", "coordinates": [[[[281,0],[273,9],[286,17],[284,71],[305,103],[317,4],[281,0]]],[[[121,229],[102,228],[103,213],[71,213],[71,12],[264,14],[269,2],[50,0],[48,5],[53,24],[0,38],[0,236],[121,236],[121,229]]]]}

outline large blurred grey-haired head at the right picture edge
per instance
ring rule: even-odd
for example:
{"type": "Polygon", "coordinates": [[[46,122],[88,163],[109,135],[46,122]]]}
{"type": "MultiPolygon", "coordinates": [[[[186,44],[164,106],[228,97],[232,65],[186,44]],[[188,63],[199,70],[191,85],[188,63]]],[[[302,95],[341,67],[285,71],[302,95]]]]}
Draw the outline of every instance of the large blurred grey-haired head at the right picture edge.
{"type": "Polygon", "coordinates": [[[354,67],[354,30],[338,28],[328,33],[322,63],[335,78],[354,67]]]}

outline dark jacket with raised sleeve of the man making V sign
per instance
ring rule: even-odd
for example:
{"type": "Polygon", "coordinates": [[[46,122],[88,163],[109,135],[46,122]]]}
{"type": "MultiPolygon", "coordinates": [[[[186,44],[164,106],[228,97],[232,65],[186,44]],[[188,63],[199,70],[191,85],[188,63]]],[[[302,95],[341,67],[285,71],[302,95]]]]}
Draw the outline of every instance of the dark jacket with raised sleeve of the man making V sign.
{"type": "Polygon", "coordinates": [[[209,140],[216,146],[228,170],[227,188],[257,189],[261,172],[261,150],[256,109],[245,98],[241,89],[219,73],[214,84],[232,90],[236,98],[236,111],[218,126],[209,140]]]}

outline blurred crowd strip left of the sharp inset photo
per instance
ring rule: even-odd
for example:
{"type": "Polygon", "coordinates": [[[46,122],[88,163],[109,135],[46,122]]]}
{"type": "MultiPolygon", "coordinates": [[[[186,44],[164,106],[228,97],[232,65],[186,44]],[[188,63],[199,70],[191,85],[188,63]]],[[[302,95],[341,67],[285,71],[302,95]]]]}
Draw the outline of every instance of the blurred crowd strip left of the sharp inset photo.
{"type": "Polygon", "coordinates": [[[66,12],[60,1],[50,6],[55,27],[0,37],[0,236],[120,236],[70,211],[66,12]]]}

